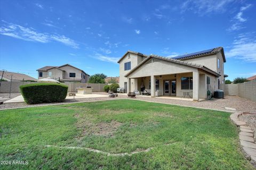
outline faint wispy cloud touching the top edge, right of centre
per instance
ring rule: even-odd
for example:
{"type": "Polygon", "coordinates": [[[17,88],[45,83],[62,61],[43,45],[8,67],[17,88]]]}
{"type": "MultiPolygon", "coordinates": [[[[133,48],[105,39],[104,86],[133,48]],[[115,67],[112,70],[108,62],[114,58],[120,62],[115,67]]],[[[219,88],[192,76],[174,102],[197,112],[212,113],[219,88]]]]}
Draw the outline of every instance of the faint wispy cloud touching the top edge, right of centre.
{"type": "Polygon", "coordinates": [[[187,0],[181,5],[181,12],[194,11],[199,15],[206,13],[220,13],[226,11],[226,6],[233,0],[187,0]]]}

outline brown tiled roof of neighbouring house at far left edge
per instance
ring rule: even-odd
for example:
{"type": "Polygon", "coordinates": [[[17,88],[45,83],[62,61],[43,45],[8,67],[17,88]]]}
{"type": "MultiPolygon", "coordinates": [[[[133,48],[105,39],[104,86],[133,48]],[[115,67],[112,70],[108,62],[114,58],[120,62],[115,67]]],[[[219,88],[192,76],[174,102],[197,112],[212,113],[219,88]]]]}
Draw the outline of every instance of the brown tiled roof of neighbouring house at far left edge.
{"type": "Polygon", "coordinates": [[[25,74],[21,74],[19,72],[9,72],[9,71],[0,71],[0,80],[3,75],[3,80],[6,80],[7,82],[10,82],[11,79],[13,82],[22,82],[22,81],[37,81],[37,79],[30,77],[25,74]]]}

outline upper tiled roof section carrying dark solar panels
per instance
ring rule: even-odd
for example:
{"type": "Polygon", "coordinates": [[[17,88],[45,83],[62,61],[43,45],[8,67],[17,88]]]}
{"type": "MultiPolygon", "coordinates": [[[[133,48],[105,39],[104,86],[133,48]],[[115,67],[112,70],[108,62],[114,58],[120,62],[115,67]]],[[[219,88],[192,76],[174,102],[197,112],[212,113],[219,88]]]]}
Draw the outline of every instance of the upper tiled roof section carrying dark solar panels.
{"type": "Polygon", "coordinates": [[[187,59],[192,59],[192,58],[198,58],[198,57],[201,57],[201,56],[217,54],[219,52],[222,54],[223,61],[226,62],[223,47],[211,48],[209,50],[204,50],[204,51],[199,51],[199,52],[195,52],[195,53],[175,56],[175,57],[173,57],[173,59],[187,60],[187,59]]]}

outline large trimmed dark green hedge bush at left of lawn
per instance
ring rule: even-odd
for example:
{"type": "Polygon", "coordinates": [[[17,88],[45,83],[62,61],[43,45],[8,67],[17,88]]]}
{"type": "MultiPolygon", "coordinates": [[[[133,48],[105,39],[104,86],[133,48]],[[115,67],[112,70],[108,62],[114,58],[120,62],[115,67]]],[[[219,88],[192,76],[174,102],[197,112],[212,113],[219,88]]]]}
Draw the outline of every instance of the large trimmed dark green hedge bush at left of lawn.
{"type": "Polygon", "coordinates": [[[57,83],[35,83],[20,86],[20,92],[28,104],[62,102],[68,86],[57,83]]]}

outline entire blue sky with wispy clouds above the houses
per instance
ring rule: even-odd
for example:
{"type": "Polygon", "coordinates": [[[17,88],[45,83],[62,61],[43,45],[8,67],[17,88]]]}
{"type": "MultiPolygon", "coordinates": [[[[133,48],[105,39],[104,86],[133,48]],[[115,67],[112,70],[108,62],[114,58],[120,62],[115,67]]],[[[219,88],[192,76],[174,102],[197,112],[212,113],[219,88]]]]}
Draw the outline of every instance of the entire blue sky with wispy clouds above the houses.
{"type": "Polygon", "coordinates": [[[119,76],[127,50],[177,56],[222,46],[228,79],[256,75],[256,2],[0,1],[0,69],[72,64],[119,76]]]}

